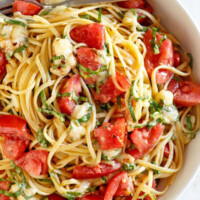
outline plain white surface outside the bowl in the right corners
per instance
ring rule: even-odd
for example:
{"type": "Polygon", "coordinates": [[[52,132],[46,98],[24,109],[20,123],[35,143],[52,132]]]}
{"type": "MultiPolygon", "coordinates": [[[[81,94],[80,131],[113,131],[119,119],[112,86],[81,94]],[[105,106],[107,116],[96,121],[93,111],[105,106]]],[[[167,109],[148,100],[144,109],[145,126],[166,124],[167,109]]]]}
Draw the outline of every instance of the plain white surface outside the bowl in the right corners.
{"type": "MultiPolygon", "coordinates": [[[[200,32],[200,0],[178,0],[193,18],[200,32]]],[[[200,47],[199,47],[200,55],[200,47]]],[[[199,142],[200,143],[200,142],[199,142]]],[[[200,152],[199,152],[200,153],[200,152]]],[[[173,187],[173,185],[172,185],[173,187]]],[[[181,200],[200,200],[200,170],[192,184],[184,192],[181,200]]]]}

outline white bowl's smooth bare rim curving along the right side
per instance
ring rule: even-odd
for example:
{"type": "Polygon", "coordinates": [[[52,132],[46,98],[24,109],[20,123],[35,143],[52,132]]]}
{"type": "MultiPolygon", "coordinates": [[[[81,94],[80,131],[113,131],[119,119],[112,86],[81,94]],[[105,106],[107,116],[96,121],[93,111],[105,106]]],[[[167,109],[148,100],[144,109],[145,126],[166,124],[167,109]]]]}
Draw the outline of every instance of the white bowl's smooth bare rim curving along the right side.
{"type": "MultiPolygon", "coordinates": [[[[200,32],[192,19],[177,0],[149,0],[161,24],[172,33],[184,50],[191,52],[194,59],[193,74],[200,83],[200,32]]],[[[191,2],[192,3],[192,2],[191,2]]],[[[184,163],[175,182],[159,200],[180,200],[200,166],[200,133],[185,148],[184,163]]],[[[197,194],[198,195],[198,194],[197,194]]]]}

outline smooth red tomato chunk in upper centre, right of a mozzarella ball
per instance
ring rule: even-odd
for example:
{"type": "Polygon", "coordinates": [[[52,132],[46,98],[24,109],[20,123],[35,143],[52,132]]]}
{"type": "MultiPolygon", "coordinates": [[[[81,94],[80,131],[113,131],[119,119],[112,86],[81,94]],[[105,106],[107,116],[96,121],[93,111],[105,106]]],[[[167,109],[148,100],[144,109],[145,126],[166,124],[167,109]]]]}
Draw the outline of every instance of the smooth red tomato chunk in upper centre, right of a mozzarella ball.
{"type": "Polygon", "coordinates": [[[105,28],[99,23],[77,26],[71,30],[70,36],[76,42],[83,42],[90,48],[103,49],[105,28]]]}

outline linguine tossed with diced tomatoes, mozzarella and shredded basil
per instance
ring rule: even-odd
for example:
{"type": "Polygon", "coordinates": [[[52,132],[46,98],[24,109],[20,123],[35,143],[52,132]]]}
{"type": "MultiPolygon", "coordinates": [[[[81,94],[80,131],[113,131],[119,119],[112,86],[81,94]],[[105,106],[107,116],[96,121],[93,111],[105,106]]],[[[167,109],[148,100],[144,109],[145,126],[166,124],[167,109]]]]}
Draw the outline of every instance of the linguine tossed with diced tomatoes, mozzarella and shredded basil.
{"type": "Polygon", "coordinates": [[[199,129],[192,56],[145,0],[0,16],[0,199],[155,200],[199,129]]]}

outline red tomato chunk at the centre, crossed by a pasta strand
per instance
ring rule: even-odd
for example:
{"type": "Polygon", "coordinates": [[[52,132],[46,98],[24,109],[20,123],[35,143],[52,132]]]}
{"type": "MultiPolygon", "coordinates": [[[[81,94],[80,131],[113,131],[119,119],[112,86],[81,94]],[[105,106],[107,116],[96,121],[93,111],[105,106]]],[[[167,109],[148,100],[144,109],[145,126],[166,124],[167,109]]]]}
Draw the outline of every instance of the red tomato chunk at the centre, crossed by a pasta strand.
{"type": "MultiPolygon", "coordinates": [[[[117,79],[118,84],[124,90],[127,90],[130,87],[130,83],[129,83],[128,79],[126,78],[126,76],[124,76],[120,72],[116,73],[116,79],[117,79]]],[[[108,78],[108,80],[102,86],[99,87],[99,89],[100,89],[99,94],[97,92],[95,92],[94,98],[96,100],[101,101],[102,103],[107,103],[111,99],[124,93],[115,86],[111,76],[108,78]]]]}

